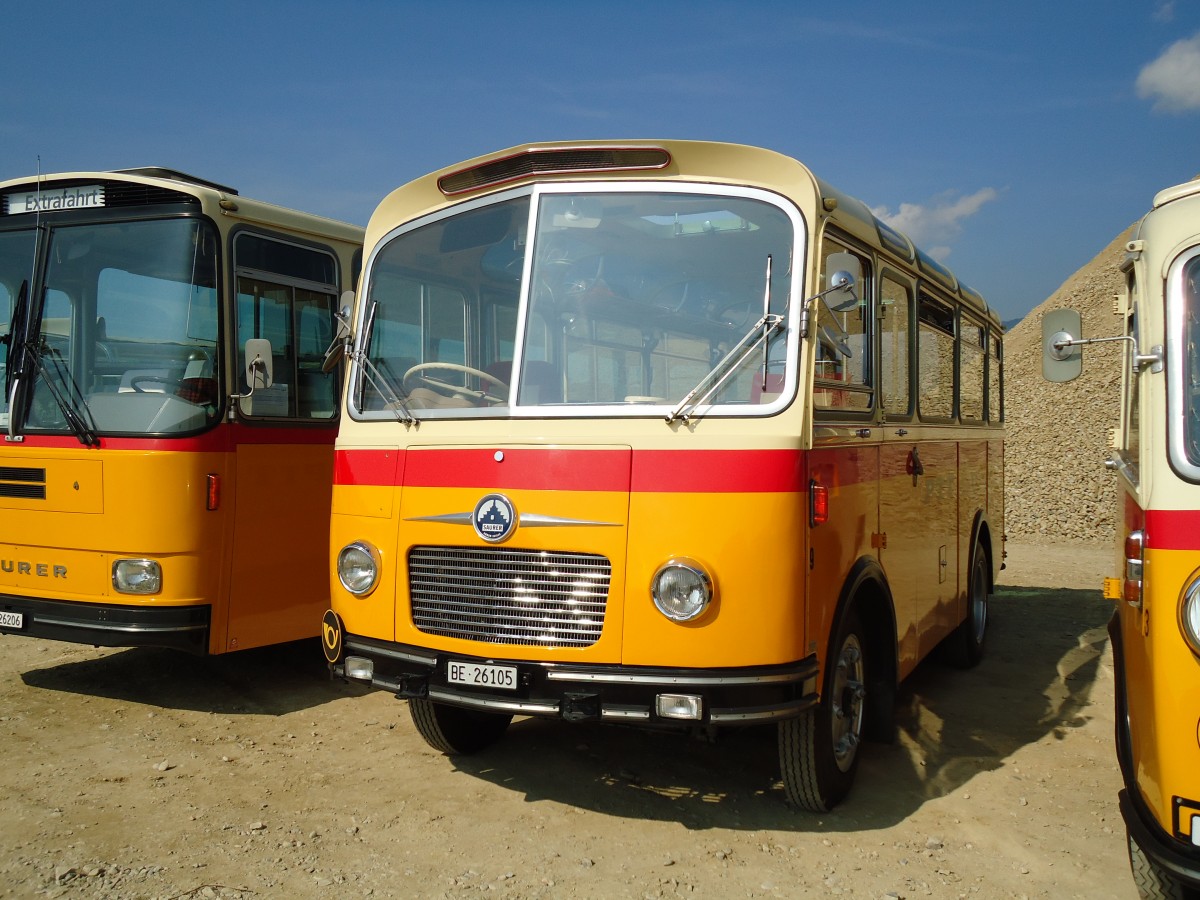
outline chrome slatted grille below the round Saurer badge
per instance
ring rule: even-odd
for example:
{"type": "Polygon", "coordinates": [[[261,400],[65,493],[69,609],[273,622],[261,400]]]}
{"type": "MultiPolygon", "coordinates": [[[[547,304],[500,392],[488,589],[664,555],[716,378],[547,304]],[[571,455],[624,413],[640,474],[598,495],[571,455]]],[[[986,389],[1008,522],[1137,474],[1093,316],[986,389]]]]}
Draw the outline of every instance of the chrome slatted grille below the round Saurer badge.
{"type": "Polygon", "coordinates": [[[413,624],[486,643],[587,647],[600,638],[612,564],[594,553],[413,547],[413,624]]]}

